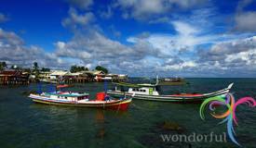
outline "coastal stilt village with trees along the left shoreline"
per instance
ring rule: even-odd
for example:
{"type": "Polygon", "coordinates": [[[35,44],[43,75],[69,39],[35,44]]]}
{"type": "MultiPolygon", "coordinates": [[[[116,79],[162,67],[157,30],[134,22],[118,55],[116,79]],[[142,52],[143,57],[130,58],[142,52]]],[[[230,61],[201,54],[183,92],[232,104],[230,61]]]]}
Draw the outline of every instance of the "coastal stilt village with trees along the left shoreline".
{"type": "Polygon", "coordinates": [[[70,70],[50,70],[49,68],[39,68],[37,63],[34,67],[18,68],[12,66],[7,68],[6,62],[0,62],[0,84],[29,84],[31,82],[48,83],[85,83],[101,81],[126,81],[128,75],[109,73],[101,66],[93,70],[85,67],[72,66],[70,70]]]}

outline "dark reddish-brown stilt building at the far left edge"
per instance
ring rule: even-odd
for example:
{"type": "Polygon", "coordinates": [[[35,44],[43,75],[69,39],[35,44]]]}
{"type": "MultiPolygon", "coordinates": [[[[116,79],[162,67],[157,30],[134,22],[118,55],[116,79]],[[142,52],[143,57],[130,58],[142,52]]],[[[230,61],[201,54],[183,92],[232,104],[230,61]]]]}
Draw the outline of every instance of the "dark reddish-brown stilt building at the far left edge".
{"type": "Polygon", "coordinates": [[[29,74],[20,70],[3,70],[0,84],[29,84],[29,74]]]}

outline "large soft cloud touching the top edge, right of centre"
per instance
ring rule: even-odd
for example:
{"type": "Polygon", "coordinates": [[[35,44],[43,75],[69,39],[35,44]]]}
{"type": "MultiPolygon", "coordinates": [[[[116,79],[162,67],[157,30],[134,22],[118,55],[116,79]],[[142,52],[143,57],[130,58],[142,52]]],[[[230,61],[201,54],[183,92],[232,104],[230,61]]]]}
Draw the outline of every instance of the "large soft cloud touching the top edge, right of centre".
{"type": "Polygon", "coordinates": [[[125,19],[151,19],[175,10],[200,6],[205,0],[117,0],[116,7],[123,11],[125,19]]]}

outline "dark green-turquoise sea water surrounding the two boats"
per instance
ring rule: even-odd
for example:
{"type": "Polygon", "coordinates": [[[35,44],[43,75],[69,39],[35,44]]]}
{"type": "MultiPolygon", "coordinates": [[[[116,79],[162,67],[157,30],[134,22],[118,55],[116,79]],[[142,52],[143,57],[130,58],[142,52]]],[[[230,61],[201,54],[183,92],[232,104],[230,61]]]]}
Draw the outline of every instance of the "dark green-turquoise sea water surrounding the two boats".
{"type": "MultiPolygon", "coordinates": [[[[209,93],[232,88],[236,99],[256,97],[256,79],[187,79],[185,86],[163,87],[163,93],[209,93]]],[[[132,81],[138,81],[136,79],[132,81]]],[[[146,81],[146,80],[145,80],[146,81]]],[[[113,86],[108,86],[112,88],[113,86]]],[[[199,117],[200,105],[134,100],[127,112],[34,104],[26,92],[29,86],[0,86],[1,147],[236,147],[227,142],[163,142],[161,134],[222,134],[225,124],[206,112],[199,117]]],[[[103,83],[77,84],[71,91],[87,92],[91,97],[104,90],[103,83]]],[[[237,108],[236,140],[244,147],[256,144],[256,108],[237,108]]]]}

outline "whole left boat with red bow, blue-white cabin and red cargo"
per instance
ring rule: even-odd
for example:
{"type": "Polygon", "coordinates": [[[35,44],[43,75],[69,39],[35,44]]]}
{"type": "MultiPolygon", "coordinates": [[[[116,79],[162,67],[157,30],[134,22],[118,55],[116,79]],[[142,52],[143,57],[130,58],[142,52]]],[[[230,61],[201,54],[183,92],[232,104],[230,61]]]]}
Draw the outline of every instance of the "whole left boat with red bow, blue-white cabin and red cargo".
{"type": "Polygon", "coordinates": [[[106,95],[106,93],[97,93],[95,100],[89,100],[88,93],[71,93],[71,92],[57,92],[57,93],[41,93],[29,95],[35,103],[47,105],[68,105],[68,106],[83,106],[95,107],[102,109],[117,109],[127,110],[131,102],[131,98],[120,97],[113,99],[106,95]]]}

